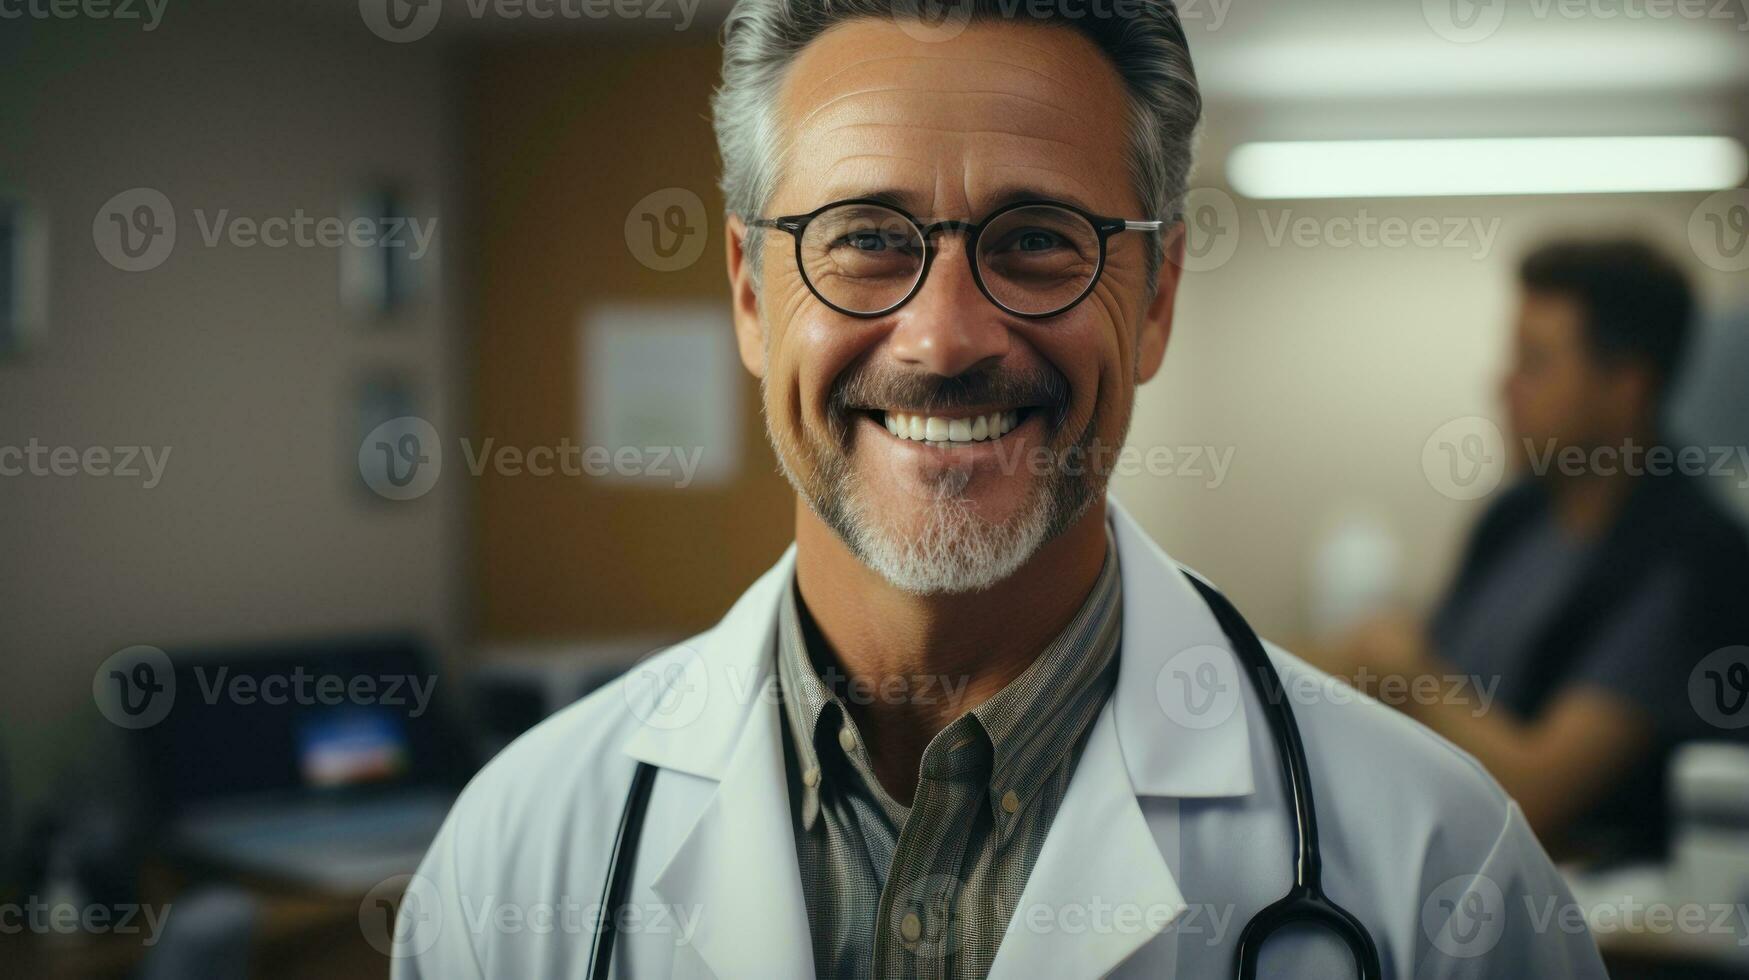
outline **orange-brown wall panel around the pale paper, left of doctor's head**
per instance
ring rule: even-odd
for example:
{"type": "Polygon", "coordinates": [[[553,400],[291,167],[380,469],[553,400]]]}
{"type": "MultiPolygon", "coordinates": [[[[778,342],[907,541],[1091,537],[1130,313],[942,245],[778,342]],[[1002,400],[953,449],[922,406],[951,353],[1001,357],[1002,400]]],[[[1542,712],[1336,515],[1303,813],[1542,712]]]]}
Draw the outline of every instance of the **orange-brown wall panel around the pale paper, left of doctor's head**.
{"type": "MultiPolygon", "coordinates": [[[[698,301],[729,329],[708,124],[719,60],[715,38],[691,32],[495,40],[472,61],[479,439],[532,448],[588,438],[579,336],[589,310],[698,301]],[[703,203],[682,245],[701,248],[696,261],[673,271],[638,261],[628,234],[644,231],[633,212],[649,194],[703,203]]],[[[679,639],[721,618],[777,560],[792,497],[764,441],[757,383],[738,362],[733,376],[740,450],[729,483],[645,488],[498,467],[481,476],[484,640],[679,639]]],[[[642,383],[679,396],[694,382],[677,368],[642,383]]]]}

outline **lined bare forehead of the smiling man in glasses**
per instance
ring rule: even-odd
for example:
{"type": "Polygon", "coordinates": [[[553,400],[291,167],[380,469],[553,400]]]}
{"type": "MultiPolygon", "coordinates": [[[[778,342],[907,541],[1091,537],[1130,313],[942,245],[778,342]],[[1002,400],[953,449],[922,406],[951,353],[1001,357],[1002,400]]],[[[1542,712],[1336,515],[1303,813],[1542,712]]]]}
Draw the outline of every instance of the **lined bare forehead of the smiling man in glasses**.
{"type": "Polygon", "coordinates": [[[957,196],[955,210],[976,210],[1004,191],[1079,198],[1070,203],[1102,214],[1132,208],[1128,170],[1118,166],[1128,149],[1123,135],[1130,102],[1123,79],[1097,46],[1055,24],[974,21],[964,37],[965,44],[918,49],[876,19],[840,24],[810,44],[780,94],[789,116],[784,170],[812,172],[815,192],[829,191],[831,198],[857,196],[869,182],[887,189],[916,184],[916,192],[929,192],[932,184],[937,205],[943,194],[957,196]],[[1051,26],[1055,35],[1037,26],[1051,26]],[[834,37],[840,32],[854,33],[834,37]],[[864,80],[859,72],[878,77],[864,80]],[[955,82],[969,88],[957,89],[955,82]],[[1020,91],[1000,91],[1009,84],[1020,91]],[[918,98],[908,100],[909,93],[918,98]],[[965,114],[981,128],[962,130],[951,124],[951,108],[943,107],[953,96],[960,96],[962,108],[997,108],[965,114]],[[923,124],[908,121],[916,116],[923,116],[923,124]],[[950,124],[929,126],[929,116],[950,124]],[[1093,136],[1088,130],[1118,135],[1093,136]],[[906,133],[920,138],[908,140],[906,133]],[[1114,145],[1100,149],[1107,142],[1114,145]],[[895,156],[892,149],[909,156],[895,156]],[[1065,158],[1063,150],[1072,152],[1065,158]],[[1035,159],[1014,164],[1016,156],[1035,159]],[[1009,180],[992,178],[1002,170],[1009,180]]]}

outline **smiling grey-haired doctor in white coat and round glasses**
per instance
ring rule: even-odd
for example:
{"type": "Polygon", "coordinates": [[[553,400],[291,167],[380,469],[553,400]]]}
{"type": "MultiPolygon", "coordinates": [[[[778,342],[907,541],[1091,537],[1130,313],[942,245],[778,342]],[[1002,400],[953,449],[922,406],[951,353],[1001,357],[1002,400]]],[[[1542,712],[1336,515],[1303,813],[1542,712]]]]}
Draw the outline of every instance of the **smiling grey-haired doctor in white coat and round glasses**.
{"type": "Polygon", "coordinates": [[[474,780],[397,975],[1602,976],[1473,760],[1105,497],[1179,284],[1177,12],[950,14],[731,12],[728,273],[796,544],[474,780]]]}

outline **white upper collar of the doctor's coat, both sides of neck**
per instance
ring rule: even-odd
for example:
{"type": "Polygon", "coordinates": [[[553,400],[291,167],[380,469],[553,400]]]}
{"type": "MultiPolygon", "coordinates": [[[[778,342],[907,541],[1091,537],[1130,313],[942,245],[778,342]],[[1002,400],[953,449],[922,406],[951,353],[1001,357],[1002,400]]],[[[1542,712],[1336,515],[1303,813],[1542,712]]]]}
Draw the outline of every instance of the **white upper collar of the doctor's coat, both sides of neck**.
{"type": "MultiPolygon", "coordinates": [[[[1256,789],[1251,735],[1231,644],[1186,572],[1118,500],[1107,499],[1105,509],[1123,576],[1112,705],[1130,784],[1139,796],[1249,796],[1256,789]],[[1214,693],[1203,690],[1196,672],[1209,662],[1217,667],[1214,693]],[[1223,693],[1217,710],[1209,710],[1209,698],[1223,693]]],[[[714,630],[675,651],[670,709],[640,712],[647,718],[628,740],[628,754],[661,768],[724,777],[754,707],[777,707],[777,611],[794,570],[792,544],[714,630]]]]}

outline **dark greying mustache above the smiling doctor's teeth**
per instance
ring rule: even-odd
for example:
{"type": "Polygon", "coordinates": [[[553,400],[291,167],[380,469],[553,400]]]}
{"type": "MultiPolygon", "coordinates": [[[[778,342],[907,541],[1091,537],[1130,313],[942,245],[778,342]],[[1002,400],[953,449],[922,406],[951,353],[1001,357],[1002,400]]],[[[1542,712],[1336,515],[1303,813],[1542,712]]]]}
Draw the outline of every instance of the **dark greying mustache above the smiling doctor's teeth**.
{"type": "Polygon", "coordinates": [[[953,376],[859,368],[840,376],[827,402],[834,422],[873,408],[934,415],[983,406],[1042,408],[1060,424],[1069,413],[1069,380],[1044,366],[992,366],[953,376]]]}

